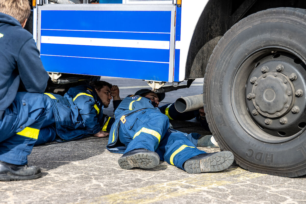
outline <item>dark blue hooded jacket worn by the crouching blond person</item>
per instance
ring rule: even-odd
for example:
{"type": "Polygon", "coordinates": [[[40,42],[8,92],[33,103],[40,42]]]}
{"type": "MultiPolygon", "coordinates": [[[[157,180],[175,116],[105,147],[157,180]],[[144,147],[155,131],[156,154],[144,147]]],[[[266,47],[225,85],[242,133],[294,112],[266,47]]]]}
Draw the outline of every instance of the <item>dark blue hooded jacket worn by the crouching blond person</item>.
{"type": "Polygon", "coordinates": [[[22,91],[43,93],[49,78],[31,33],[15,18],[0,13],[0,119],[22,91]]]}

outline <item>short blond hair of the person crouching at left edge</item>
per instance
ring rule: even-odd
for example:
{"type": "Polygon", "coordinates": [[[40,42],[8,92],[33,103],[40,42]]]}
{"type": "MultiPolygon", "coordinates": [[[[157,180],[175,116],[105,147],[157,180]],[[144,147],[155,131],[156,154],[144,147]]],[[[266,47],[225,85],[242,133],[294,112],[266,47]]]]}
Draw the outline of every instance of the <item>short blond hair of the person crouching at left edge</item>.
{"type": "Polygon", "coordinates": [[[0,12],[16,18],[22,24],[29,17],[31,8],[28,0],[0,0],[0,12]]]}

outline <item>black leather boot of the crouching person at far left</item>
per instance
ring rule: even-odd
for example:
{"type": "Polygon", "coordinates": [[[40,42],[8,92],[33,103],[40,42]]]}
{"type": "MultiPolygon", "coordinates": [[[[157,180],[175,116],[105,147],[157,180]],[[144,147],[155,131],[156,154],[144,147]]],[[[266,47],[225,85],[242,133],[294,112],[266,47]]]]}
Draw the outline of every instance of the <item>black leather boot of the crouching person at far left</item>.
{"type": "Polygon", "coordinates": [[[0,161],[0,181],[37,179],[41,174],[37,166],[15,165],[0,161]]]}

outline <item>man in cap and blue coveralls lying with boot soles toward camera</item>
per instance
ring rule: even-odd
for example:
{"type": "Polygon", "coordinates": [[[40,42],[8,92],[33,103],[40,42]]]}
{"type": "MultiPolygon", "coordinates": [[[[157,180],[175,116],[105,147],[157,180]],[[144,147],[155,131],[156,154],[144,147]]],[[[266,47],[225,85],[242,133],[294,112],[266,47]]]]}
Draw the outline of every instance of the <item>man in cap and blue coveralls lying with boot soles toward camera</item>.
{"type": "Polygon", "coordinates": [[[130,95],[115,111],[106,148],[123,153],[118,163],[122,169],[154,168],[167,161],[188,173],[215,172],[233,163],[230,151],[206,153],[181,132],[169,129],[169,119],[158,109],[164,94],[150,92],[143,97],[130,95]]]}

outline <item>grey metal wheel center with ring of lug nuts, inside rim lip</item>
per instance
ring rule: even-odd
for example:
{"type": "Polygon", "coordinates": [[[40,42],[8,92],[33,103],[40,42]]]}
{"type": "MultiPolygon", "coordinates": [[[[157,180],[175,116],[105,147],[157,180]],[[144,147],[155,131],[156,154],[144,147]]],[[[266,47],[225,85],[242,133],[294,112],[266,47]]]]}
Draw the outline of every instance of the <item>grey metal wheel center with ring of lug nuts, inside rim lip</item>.
{"type": "Polygon", "coordinates": [[[245,102],[264,132],[289,137],[306,126],[305,70],[305,64],[288,52],[266,55],[253,64],[245,102]]]}

